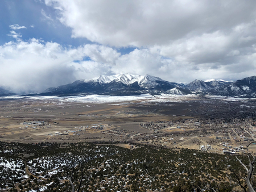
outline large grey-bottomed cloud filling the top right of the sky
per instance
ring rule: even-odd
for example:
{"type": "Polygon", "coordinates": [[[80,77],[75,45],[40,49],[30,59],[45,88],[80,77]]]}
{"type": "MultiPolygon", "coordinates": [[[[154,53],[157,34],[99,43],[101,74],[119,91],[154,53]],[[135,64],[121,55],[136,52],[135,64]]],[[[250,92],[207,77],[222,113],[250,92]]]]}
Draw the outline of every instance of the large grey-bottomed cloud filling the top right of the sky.
{"type": "MultiPolygon", "coordinates": [[[[72,37],[114,47],[170,44],[184,37],[255,20],[255,1],[62,1],[46,0],[71,27],[72,37]]],[[[246,28],[249,26],[245,26],[246,28]]]]}

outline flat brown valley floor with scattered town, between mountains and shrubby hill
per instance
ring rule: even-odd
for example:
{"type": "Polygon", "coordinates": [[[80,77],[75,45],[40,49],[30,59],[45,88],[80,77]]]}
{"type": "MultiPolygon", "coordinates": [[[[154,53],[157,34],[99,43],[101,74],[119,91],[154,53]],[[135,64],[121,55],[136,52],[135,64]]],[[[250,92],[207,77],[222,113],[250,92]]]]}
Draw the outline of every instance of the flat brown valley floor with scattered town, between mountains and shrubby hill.
{"type": "MultiPolygon", "coordinates": [[[[130,142],[228,154],[245,153],[247,144],[255,141],[254,102],[202,98],[186,102],[60,105],[25,100],[16,106],[13,101],[2,102],[2,114],[11,110],[15,116],[2,115],[0,137],[20,143],[130,142]]],[[[255,146],[250,150],[255,151],[255,146]]]]}

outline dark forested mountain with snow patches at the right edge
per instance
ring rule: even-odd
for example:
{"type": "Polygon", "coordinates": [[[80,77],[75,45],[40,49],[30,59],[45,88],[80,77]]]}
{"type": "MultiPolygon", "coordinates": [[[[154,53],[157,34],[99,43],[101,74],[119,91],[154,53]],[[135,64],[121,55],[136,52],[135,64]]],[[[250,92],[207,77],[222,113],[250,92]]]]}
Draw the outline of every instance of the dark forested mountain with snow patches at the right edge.
{"type": "Polygon", "coordinates": [[[210,91],[211,95],[255,97],[256,76],[246,77],[242,80],[234,81],[228,85],[215,87],[210,91]]]}

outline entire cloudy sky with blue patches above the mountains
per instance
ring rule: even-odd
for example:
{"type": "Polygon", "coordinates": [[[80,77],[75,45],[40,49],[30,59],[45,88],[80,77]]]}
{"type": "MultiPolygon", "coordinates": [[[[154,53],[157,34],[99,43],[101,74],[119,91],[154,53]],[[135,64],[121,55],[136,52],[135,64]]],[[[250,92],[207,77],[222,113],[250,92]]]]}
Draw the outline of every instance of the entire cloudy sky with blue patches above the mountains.
{"type": "Polygon", "coordinates": [[[1,0],[0,19],[0,87],[16,92],[101,74],[256,74],[255,0],[1,0]]]}

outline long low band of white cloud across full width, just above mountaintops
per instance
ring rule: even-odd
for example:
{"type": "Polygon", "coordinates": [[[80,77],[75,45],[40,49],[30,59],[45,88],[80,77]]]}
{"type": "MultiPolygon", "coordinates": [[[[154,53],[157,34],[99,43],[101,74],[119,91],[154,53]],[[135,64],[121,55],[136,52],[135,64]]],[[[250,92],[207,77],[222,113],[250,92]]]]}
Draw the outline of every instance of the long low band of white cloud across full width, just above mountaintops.
{"type": "MultiPolygon", "coordinates": [[[[180,50],[181,53],[183,49],[180,50]]],[[[104,45],[71,48],[38,39],[10,41],[0,46],[0,82],[1,86],[13,87],[15,91],[42,91],[79,79],[89,80],[100,74],[122,72],[151,74],[172,82],[190,82],[196,78],[237,80],[255,74],[255,48],[251,55],[238,54],[236,50],[230,54],[237,57],[236,62],[199,64],[190,62],[187,59],[190,56],[170,59],[163,57],[164,53],[147,48],[121,55],[104,45]],[[86,57],[90,60],[84,61],[86,57]]]]}

